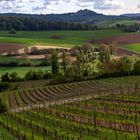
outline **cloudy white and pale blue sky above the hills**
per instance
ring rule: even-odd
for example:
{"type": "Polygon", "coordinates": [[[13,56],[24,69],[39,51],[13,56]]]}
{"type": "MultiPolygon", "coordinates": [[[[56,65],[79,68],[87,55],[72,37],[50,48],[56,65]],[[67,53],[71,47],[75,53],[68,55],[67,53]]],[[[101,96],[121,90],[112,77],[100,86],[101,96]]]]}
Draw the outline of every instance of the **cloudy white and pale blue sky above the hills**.
{"type": "Polygon", "coordinates": [[[81,9],[106,15],[140,13],[140,0],[0,0],[0,13],[50,14],[81,9]]]}

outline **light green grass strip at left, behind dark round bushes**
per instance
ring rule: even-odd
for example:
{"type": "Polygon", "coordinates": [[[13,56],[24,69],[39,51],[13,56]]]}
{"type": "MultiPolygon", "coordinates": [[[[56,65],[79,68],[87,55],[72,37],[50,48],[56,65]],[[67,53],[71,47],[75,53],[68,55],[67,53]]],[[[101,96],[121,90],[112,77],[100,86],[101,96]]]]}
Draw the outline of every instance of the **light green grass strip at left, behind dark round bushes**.
{"type": "Polygon", "coordinates": [[[24,77],[24,75],[30,70],[51,70],[50,67],[1,67],[0,68],[0,76],[6,72],[12,73],[17,72],[19,76],[24,77]]]}

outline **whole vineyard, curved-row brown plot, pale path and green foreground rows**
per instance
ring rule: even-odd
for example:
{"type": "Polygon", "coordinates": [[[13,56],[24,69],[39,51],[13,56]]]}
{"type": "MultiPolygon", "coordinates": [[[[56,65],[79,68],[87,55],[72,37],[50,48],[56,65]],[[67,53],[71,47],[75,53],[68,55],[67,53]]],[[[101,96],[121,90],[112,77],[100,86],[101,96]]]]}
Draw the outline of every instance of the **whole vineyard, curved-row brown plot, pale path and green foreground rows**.
{"type": "Polygon", "coordinates": [[[13,91],[0,126],[19,140],[140,140],[139,96],[95,81],[13,91]]]}

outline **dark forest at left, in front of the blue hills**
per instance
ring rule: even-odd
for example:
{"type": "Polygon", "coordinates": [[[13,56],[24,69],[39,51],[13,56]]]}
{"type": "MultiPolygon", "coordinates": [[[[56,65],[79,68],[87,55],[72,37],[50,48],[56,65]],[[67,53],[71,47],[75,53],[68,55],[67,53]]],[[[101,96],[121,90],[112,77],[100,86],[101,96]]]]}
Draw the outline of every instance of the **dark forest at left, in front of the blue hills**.
{"type": "Polygon", "coordinates": [[[97,26],[71,23],[71,22],[51,22],[46,19],[36,19],[31,17],[0,16],[0,30],[93,30],[97,26]]]}

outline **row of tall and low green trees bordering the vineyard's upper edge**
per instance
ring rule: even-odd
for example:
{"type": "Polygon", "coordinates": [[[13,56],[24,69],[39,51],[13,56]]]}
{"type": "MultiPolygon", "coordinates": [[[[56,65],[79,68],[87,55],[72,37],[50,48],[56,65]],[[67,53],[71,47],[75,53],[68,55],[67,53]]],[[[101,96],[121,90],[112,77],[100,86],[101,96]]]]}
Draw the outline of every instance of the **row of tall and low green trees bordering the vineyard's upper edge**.
{"type": "MultiPolygon", "coordinates": [[[[1,76],[3,82],[23,80],[51,79],[51,84],[80,81],[84,77],[93,79],[140,75],[140,58],[137,56],[123,56],[112,58],[116,53],[115,44],[102,45],[100,51],[94,51],[92,46],[75,47],[75,61],[68,60],[69,54],[65,50],[60,54],[57,50],[51,52],[51,71],[29,71],[24,78],[16,72],[5,73],[1,76]],[[80,49],[79,49],[80,48],[80,49]]],[[[47,61],[47,60],[46,60],[47,61]]]]}

